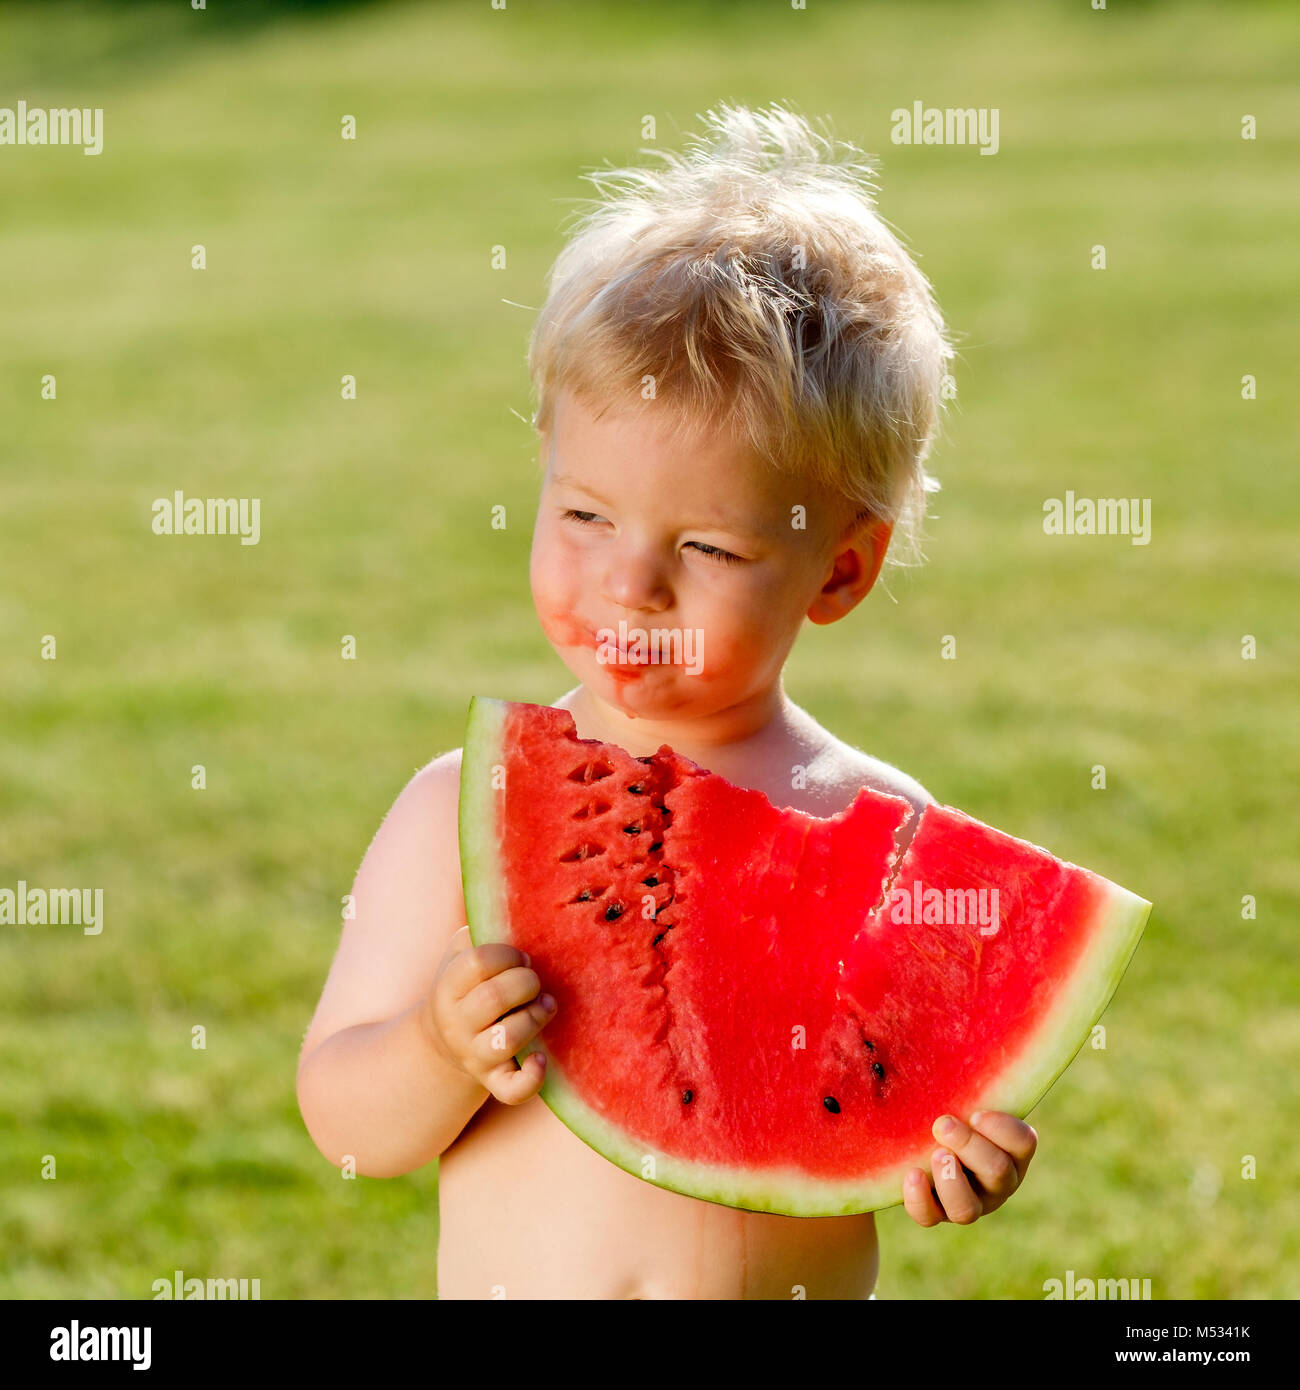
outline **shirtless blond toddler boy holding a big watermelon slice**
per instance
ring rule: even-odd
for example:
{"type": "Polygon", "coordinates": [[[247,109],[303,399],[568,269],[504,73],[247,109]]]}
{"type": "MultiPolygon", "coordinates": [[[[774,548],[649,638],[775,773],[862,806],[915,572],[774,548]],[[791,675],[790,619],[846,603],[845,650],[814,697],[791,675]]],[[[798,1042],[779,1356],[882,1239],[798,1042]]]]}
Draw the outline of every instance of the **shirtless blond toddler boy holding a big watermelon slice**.
{"type": "MultiPolygon", "coordinates": [[[[830,816],[869,785],[919,809],[925,788],[822,728],[781,669],[805,619],[848,616],[891,543],[915,552],[952,349],[852,147],[780,106],[705,120],[662,170],[591,175],[602,197],[534,331],[530,578],[580,682],[555,703],[580,738],[670,744],[777,806],[830,816]],[[673,660],[645,656],[647,632],[676,634],[673,660]]],[[[653,1187],[537,1098],[542,1056],[513,1056],[555,1001],[519,951],[469,938],[459,774],[459,749],[424,767],[357,873],[299,1063],[321,1152],[373,1177],[441,1159],[445,1298],[868,1298],[870,1215],[653,1187]]],[[[997,1112],[934,1120],[930,1172],[900,1197],[922,1226],[968,1225],[1037,1136],[997,1112]]]]}

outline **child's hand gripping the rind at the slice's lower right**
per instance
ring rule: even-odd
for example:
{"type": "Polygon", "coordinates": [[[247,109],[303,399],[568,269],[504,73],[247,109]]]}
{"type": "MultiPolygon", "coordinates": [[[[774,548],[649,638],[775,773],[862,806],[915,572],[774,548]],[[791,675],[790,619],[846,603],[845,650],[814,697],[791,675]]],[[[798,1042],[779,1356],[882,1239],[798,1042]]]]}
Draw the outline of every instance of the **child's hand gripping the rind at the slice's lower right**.
{"type": "Polygon", "coordinates": [[[1039,1147],[1034,1129],[1004,1111],[982,1111],[970,1119],[977,1122],[975,1129],[955,1115],[934,1122],[933,1134],[945,1147],[930,1155],[933,1188],[919,1168],[902,1180],[902,1205],[918,1226],[944,1220],[969,1226],[997,1211],[1025,1180],[1039,1147]],[[952,1127],[944,1130],[944,1122],[952,1127]]]}

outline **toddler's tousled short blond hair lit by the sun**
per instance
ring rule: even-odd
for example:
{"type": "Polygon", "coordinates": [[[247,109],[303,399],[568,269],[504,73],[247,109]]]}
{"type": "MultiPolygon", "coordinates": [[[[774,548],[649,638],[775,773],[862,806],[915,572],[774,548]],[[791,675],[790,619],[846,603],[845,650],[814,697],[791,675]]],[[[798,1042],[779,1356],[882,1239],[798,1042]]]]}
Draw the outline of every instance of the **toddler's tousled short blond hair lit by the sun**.
{"type": "Polygon", "coordinates": [[[652,398],[674,431],[731,431],[893,523],[919,557],[952,346],[875,210],[875,164],[781,104],[702,120],[690,153],[642,150],[663,170],[584,175],[601,197],[551,270],[533,423],[551,432],[563,389],[623,409],[652,398]]]}

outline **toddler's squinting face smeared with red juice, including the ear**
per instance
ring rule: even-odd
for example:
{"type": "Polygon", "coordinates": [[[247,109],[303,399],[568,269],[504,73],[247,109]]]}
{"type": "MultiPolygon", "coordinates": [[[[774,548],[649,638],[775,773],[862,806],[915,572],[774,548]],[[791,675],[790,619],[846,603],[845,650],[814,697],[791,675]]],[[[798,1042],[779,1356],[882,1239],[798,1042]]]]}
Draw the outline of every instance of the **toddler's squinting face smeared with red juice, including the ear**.
{"type": "Polygon", "coordinates": [[[724,435],[673,441],[652,411],[598,420],[570,392],[558,399],[533,600],[598,699],[641,719],[701,717],[772,688],[804,617],[830,623],[854,607],[890,528],[854,530],[844,503],[819,502],[724,435]],[[805,525],[793,524],[797,509],[805,525]]]}

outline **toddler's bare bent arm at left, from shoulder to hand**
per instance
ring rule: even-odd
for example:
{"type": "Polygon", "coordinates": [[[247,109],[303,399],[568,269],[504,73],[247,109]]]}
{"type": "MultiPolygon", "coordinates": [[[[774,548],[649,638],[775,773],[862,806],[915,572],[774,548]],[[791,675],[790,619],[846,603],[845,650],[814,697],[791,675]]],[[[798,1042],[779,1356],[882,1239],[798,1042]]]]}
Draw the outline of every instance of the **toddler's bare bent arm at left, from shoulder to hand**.
{"type": "Polygon", "coordinates": [[[484,995],[466,1001],[460,987],[512,999],[513,1008],[537,995],[538,981],[513,948],[474,951],[467,933],[459,935],[459,755],[430,763],[385,817],[357,872],[356,916],[345,923],[303,1040],[298,1102],[307,1131],[331,1163],[350,1154],[367,1177],[409,1173],[437,1158],[489,1094],[517,1104],[541,1086],[537,1065],[520,1072],[512,1061],[549,1016],[541,1004],[507,1020],[510,1051],[489,1052],[495,1072],[482,1069],[491,1086],[462,1056],[459,1023],[484,995]],[[505,1077],[507,1069],[517,1080],[505,1077]]]}

